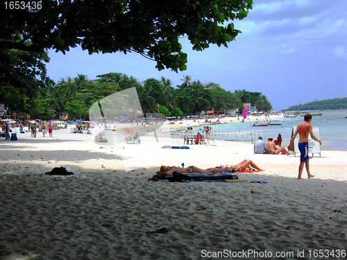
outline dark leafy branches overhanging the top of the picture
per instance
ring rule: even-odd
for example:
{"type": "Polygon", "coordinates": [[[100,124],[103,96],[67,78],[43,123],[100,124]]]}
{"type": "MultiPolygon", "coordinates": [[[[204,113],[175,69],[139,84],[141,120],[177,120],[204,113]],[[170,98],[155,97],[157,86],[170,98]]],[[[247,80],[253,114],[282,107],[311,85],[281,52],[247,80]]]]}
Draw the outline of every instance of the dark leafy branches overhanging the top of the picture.
{"type": "MultiPolygon", "coordinates": [[[[180,37],[196,51],[228,46],[241,31],[253,0],[46,0],[42,8],[13,8],[1,14],[0,49],[44,53],[78,45],[89,53],[135,52],[156,67],[185,70],[180,37]],[[14,37],[15,35],[16,37],[14,37]]],[[[4,8],[4,6],[1,6],[4,8]]]]}

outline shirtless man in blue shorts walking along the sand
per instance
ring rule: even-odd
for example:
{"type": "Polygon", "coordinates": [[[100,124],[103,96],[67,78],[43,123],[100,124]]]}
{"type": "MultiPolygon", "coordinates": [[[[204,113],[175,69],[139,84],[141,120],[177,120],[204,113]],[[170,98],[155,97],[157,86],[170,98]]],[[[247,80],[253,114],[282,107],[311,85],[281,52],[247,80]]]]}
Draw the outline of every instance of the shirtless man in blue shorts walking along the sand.
{"type": "Polygon", "coordinates": [[[307,177],[309,179],[314,177],[314,175],[312,175],[310,173],[310,164],[309,164],[310,157],[308,156],[308,134],[310,133],[311,138],[314,139],[314,141],[318,141],[319,144],[322,144],[321,140],[316,138],[313,134],[311,121],[312,121],[312,115],[311,114],[305,114],[304,122],[301,123],[300,125],[298,125],[298,127],[296,128],[296,130],[294,132],[294,135],[290,139],[290,143],[288,146],[288,149],[290,150],[291,146],[294,143],[294,139],[295,139],[296,135],[299,134],[298,147],[299,147],[301,155],[300,155],[298,179],[301,179],[301,174],[303,173],[304,164],[305,164],[306,171],[307,171],[307,177]]]}

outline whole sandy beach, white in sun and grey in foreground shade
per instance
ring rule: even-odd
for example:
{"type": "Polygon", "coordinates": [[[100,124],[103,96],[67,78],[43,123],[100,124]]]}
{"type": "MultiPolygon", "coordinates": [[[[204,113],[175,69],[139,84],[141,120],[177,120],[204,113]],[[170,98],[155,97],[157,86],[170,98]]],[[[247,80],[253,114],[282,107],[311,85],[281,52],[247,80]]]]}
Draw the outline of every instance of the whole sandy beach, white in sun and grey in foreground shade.
{"type": "Polygon", "coordinates": [[[346,259],[347,151],[321,150],[314,179],[297,180],[298,156],[256,155],[251,142],[162,148],[184,145],[169,126],[141,144],[95,144],[101,128],[1,139],[0,259],[346,259]],[[162,164],[242,159],[265,171],[237,173],[240,183],[148,181],[162,164]],[[76,174],[43,174],[59,166],[76,174]]]}

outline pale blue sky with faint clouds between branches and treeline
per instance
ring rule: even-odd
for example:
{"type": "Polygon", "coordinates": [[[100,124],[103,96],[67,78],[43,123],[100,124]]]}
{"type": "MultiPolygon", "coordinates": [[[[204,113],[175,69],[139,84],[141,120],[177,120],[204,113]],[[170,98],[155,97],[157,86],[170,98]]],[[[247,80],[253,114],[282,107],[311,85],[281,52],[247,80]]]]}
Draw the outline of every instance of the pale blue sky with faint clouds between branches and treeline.
{"type": "Polygon", "coordinates": [[[155,62],[136,53],[89,55],[81,48],[65,55],[49,52],[48,76],[58,82],[77,73],[120,72],[137,78],[169,78],[181,85],[184,76],[217,83],[234,92],[262,92],[274,110],[290,105],[347,96],[347,1],[253,0],[253,10],[235,28],[242,31],[228,48],[210,46],[188,53],[187,70],[158,71],[155,62]]]}

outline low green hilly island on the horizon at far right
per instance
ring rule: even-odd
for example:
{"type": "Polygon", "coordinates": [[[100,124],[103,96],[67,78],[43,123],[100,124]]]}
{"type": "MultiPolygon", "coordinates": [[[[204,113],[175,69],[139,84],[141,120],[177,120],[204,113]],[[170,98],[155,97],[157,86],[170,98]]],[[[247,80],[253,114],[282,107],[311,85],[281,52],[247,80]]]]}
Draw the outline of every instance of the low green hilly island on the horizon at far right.
{"type": "Polygon", "coordinates": [[[325,99],[323,101],[312,101],[310,103],[291,105],[282,111],[301,111],[301,110],[344,110],[347,109],[346,98],[325,99]]]}

